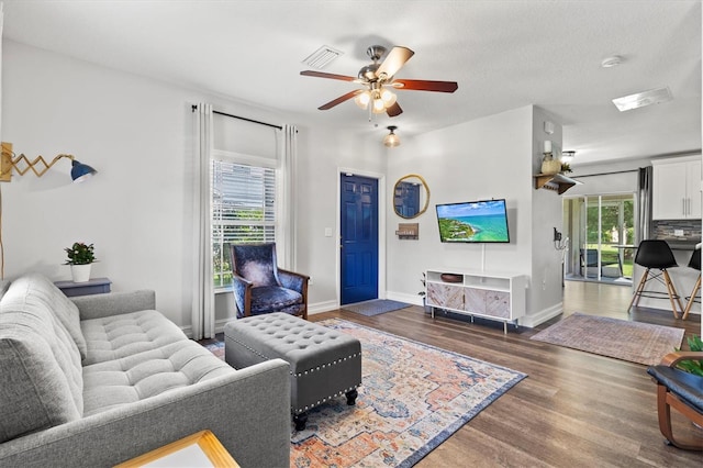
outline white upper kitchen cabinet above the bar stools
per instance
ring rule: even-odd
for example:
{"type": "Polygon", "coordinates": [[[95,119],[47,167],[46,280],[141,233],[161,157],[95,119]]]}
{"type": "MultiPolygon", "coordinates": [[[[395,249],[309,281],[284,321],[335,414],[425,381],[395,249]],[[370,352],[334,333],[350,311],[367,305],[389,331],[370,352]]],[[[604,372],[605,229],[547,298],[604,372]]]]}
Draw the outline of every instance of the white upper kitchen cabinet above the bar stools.
{"type": "Polygon", "coordinates": [[[652,160],[654,220],[701,219],[701,156],[652,160]]]}

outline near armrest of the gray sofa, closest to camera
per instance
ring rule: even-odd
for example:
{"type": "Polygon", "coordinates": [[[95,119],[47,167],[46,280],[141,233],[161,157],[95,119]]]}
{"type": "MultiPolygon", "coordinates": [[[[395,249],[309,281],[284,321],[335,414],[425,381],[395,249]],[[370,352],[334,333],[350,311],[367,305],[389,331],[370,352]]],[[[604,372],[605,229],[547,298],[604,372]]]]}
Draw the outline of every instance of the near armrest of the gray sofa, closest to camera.
{"type": "Polygon", "coordinates": [[[290,369],[271,359],[0,444],[0,466],[108,467],[210,430],[243,467],[290,466],[290,369]]]}

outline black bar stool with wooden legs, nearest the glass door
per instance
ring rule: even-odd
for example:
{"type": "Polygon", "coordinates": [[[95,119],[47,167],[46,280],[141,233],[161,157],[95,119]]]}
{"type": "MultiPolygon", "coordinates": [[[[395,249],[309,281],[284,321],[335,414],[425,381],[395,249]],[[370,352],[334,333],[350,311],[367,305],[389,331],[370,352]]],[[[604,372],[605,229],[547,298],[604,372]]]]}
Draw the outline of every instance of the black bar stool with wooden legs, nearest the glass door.
{"type": "Polygon", "coordinates": [[[677,292],[667,269],[678,267],[679,265],[677,264],[677,259],[673,257],[673,252],[671,252],[669,244],[667,244],[666,241],[640,242],[639,247],[637,248],[637,255],[635,255],[635,263],[645,267],[646,270],[641,276],[639,285],[637,285],[637,289],[633,294],[633,300],[629,301],[627,312],[633,308],[633,304],[637,305],[639,303],[639,298],[643,296],[646,298],[658,298],[660,297],[659,294],[665,294],[665,292],[661,291],[645,291],[647,281],[655,279],[667,287],[666,294],[669,296],[673,317],[678,319],[679,311],[683,311],[683,305],[681,304],[681,297],[677,292]],[[659,272],[655,272],[652,270],[659,270],[659,272]],[[678,310],[677,303],[679,304],[678,310]]]}

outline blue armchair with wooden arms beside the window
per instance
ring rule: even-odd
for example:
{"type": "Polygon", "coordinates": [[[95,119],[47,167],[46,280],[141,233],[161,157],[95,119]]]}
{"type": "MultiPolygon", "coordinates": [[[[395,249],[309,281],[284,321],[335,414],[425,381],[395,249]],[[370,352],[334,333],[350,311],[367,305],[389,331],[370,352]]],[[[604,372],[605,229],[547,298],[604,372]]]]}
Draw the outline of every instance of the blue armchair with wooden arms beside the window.
{"type": "Polygon", "coordinates": [[[284,312],[308,320],[310,277],[278,268],[276,244],[231,244],[237,319],[284,312]]]}

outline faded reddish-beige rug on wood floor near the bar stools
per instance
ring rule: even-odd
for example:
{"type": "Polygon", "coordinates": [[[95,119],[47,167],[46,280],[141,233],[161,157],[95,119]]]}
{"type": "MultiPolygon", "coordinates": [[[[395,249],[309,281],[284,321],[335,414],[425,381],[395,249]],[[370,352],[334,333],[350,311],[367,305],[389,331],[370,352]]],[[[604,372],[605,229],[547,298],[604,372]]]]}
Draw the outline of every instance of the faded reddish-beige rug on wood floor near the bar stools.
{"type": "Polygon", "coordinates": [[[681,346],[683,330],[574,313],[531,339],[650,366],[681,346]]]}

